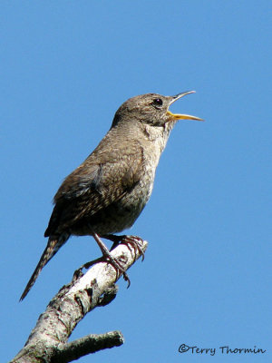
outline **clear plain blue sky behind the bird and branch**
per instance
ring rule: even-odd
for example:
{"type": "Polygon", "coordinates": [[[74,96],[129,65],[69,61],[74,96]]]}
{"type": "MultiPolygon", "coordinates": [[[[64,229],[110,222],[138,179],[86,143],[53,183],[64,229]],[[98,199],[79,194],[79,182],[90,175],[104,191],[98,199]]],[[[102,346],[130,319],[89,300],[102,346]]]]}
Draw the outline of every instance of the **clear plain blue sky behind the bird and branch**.
{"type": "MultiPolygon", "coordinates": [[[[104,361],[271,361],[271,22],[268,1],[5,1],[1,47],[1,358],[23,347],[73,270],[100,254],[73,238],[18,299],[44,250],[52,199],[127,98],[196,90],[151,201],[130,234],[149,240],[112,304],[72,338],[120,329],[104,361]],[[15,338],[14,338],[15,337],[15,338]],[[222,355],[219,347],[263,348],[222,355]]],[[[271,10],[271,7],[270,7],[271,10]]],[[[270,13],[271,15],[271,13],[270,13]]]]}

